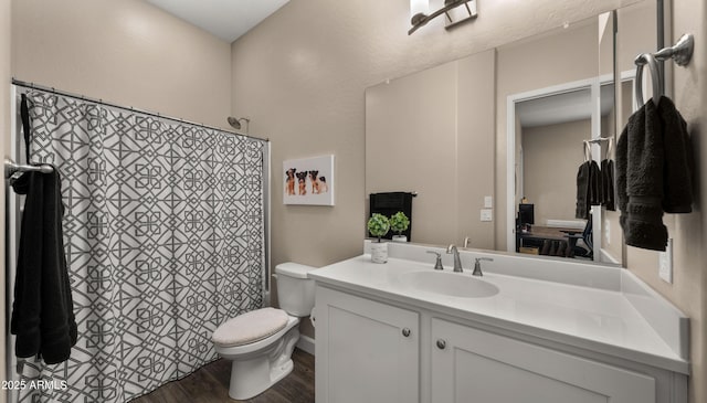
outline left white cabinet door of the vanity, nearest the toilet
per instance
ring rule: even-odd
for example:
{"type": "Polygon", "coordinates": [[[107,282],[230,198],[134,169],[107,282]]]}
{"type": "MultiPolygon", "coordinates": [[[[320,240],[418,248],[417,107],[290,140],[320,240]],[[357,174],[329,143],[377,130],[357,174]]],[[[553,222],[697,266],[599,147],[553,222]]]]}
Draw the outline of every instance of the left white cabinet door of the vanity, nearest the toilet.
{"type": "Polygon", "coordinates": [[[317,287],[317,403],[419,401],[416,312],[317,287]]]}

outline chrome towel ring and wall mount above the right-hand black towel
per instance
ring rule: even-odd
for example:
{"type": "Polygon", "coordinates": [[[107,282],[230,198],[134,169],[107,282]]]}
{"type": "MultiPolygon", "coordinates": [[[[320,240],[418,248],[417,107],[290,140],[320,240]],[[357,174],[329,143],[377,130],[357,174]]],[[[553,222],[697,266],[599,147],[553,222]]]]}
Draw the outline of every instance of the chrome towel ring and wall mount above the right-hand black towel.
{"type": "Polygon", "coordinates": [[[666,59],[673,59],[678,66],[686,66],[693,57],[693,50],[695,47],[695,39],[693,34],[686,33],[671,47],[663,47],[655,53],[642,53],[636,56],[634,63],[636,64],[636,81],[635,81],[635,95],[639,106],[643,106],[643,66],[648,65],[651,70],[651,79],[653,82],[653,104],[658,105],[661,100],[663,88],[663,77],[658,68],[658,61],[666,59]]]}

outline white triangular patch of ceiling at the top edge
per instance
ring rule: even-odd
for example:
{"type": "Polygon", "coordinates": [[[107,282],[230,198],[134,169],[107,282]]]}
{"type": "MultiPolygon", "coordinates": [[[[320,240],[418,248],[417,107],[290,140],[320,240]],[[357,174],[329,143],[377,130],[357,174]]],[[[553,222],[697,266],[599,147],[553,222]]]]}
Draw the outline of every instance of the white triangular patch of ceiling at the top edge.
{"type": "Polygon", "coordinates": [[[147,0],[231,43],[289,0],[147,0]]]}

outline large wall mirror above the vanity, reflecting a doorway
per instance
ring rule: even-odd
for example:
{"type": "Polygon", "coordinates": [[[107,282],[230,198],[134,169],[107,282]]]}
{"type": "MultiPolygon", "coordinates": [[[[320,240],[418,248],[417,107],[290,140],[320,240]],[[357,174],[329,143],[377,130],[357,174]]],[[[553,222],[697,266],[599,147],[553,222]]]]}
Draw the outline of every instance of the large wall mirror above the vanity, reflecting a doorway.
{"type": "Polygon", "coordinates": [[[640,1],[367,88],[367,195],[415,192],[415,243],[621,263],[619,212],[579,214],[578,173],[612,159],[657,10],[640,1]]]}

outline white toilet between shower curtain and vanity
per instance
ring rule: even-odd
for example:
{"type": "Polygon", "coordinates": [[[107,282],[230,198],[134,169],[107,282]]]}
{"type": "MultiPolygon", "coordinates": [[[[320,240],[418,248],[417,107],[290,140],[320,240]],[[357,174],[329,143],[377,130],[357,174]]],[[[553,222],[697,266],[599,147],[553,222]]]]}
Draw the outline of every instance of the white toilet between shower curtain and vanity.
{"type": "Polygon", "coordinates": [[[314,308],[315,269],[297,263],[275,267],[282,309],[262,308],[226,320],[212,341],[222,358],[232,361],[229,396],[246,400],[265,392],[293,370],[292,352],[299,340],[299,318],[314,308]]]}

